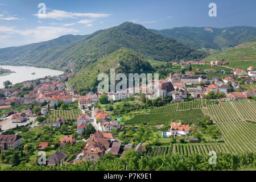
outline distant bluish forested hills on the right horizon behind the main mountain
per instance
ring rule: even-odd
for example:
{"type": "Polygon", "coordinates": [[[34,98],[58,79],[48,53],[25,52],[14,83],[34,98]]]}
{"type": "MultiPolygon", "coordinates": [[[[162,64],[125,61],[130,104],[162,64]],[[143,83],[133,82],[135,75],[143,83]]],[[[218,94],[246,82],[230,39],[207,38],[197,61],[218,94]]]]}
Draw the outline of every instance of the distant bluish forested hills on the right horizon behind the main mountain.
{"type": "Polygon", "coordinates": [[[256,27],[179,27],[165,30],[151,30],[156,34],[173,38],[196,49],[222,49],[256,40],[256,27]]]}

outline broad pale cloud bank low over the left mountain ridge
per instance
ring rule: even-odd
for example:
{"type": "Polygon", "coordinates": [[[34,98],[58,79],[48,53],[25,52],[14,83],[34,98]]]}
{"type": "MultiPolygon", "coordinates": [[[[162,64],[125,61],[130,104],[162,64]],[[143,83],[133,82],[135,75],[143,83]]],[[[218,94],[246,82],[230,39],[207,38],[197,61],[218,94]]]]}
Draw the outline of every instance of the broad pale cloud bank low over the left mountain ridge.
{"type": "Polygon", "coordinates": [[[19,39],[22,39],[22,43],[20,42],[20,44],[28,44],[51,40],[61,35],[74,34],[76,32],[79,32],[79,30],[64,27],[40,26],[34,29],[18,30],[15,27],[0,26],[0,42],[1,39],[9,38],[11,41],[18,37],[19,39]]]}

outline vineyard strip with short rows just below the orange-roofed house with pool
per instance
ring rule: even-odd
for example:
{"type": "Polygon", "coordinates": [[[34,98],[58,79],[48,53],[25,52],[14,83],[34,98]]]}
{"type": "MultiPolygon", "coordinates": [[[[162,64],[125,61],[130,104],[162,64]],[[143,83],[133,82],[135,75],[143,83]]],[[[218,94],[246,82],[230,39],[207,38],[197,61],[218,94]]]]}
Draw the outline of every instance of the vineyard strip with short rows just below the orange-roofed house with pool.
{"type": "Polygon", "coordinates": [[[229,152],[224,143],[210,144],[172,144],[171,146],[154,146],[147,152],[148,157],[179,155],[208,155],[209,151],[229,152]]]}

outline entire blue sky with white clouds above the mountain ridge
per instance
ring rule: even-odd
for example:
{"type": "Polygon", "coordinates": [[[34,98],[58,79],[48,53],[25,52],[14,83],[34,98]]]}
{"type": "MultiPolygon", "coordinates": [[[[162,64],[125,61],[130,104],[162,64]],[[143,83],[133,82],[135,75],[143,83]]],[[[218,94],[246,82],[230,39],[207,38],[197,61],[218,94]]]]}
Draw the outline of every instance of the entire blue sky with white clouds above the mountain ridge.
{"type": "Polygon", "coordinates": [[[255,0],[0,0],[0,48],[42,42],[66,34],[91,34],[123,22],[146,28],[256,27],[255,0]],[[216,3],[217,17],[208,15],[216,3]],[[38,15],[38,4],[46,15],[38,15]]]}

